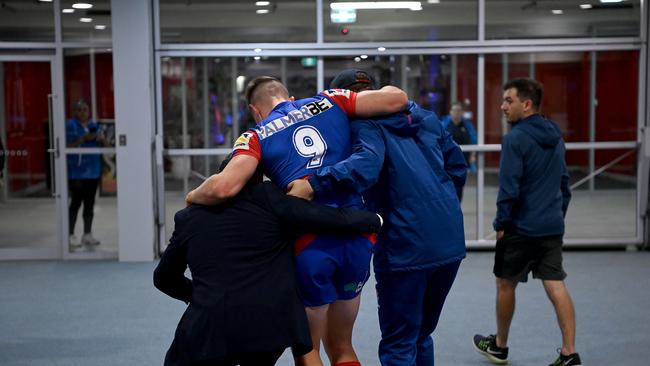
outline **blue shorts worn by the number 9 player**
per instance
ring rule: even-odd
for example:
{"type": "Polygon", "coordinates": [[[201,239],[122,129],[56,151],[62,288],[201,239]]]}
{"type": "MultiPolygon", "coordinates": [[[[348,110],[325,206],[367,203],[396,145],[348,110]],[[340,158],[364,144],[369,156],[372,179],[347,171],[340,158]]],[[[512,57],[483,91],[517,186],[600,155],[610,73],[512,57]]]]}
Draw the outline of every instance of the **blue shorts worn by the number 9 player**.
{"type": "Polygon", "coordinates": [[[296,243],[296,278],[307,307],[355,298],[370,277],[374,236],[305,235],[296,243]]]}

